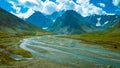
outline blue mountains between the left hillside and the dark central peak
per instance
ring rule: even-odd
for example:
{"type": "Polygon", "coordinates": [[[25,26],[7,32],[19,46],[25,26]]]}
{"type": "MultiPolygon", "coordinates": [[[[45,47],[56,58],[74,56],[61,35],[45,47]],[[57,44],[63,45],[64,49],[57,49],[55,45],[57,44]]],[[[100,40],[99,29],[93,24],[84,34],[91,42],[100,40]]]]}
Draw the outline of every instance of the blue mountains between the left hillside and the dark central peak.
{"type": "Polygon", "coordinates": [[[64,11],[54,12],[51,15],[44,15],[41,12],[36,11],[29,18],[26,19],[27,22],[32,23],[39,28],[47,30],[49,27],[53,26],[53,22],[63,14],[64,11]]]}

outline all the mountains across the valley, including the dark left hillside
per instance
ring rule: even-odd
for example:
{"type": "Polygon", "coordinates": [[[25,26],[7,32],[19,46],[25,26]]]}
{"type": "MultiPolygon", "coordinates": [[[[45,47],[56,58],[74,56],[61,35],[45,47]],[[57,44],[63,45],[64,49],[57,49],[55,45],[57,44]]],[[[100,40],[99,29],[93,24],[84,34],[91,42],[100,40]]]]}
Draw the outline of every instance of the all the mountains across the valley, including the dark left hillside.
{"type": "Polygon", "coordinates": [[[35,12],[26,21],[29,23],[0,8],[0,32],[35,32],[43,31],[43,28],[56,34],[81,34],[120,28],[120,24],[116,25],[118,28],[114,27],[120,21],[118,15],[82,17],[73,10],[55,12],[52,15],[35,12]]]}

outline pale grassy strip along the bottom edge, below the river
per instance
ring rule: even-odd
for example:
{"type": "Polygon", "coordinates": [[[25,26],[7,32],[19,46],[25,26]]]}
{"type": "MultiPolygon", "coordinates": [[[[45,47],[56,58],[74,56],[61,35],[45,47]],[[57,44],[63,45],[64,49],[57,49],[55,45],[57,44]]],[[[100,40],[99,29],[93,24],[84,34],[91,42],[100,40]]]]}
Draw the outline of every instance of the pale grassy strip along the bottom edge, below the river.
{"type": "MultiPolygon", "coordinates": [[[[29,60],[29,61],[19,61],[14,63],[13,68],[74,68],[71,66],[52,63],[46,60],[29,60]]],[[[10,68],[12,68],[10,66],[10,68]]]]}

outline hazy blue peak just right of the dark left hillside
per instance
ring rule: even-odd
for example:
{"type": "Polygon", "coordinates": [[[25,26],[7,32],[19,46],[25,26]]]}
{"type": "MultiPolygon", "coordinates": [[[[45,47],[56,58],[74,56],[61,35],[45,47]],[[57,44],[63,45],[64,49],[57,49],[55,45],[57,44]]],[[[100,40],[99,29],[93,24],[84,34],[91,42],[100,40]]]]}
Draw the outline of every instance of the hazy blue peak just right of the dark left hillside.
{"type": "Polygon", "coordinates": [[[26,21],[43,29],[52,25],[52,21],[47,16],[38,11],[27,18],[26,21]]]}

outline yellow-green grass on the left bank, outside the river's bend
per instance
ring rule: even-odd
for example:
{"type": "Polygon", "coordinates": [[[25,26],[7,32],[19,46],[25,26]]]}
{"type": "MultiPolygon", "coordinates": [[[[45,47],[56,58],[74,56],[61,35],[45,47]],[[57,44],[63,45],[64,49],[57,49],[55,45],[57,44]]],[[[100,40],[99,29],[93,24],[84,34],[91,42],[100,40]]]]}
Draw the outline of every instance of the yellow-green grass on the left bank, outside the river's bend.
{"type": "MultiPolygon", "coordinates": [[[[4,49],[12,54],[22,55],[23,57],[32,57],[31,53],[21,49],[19,47],[20,40],[24,38],[30,38],[35,36],[42,36],[42,35],[52,35],[52,33],[40,33],[37,34],[33,33],[5,33],[0,32],[0,49],[4,49]]],[[[7,65],[9,62],[15,61],[14,59],[10,58],[8,55],[4,54],[0,51],[0,65],[7,65]]]]}

